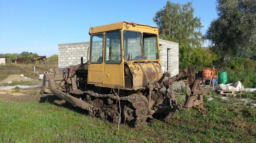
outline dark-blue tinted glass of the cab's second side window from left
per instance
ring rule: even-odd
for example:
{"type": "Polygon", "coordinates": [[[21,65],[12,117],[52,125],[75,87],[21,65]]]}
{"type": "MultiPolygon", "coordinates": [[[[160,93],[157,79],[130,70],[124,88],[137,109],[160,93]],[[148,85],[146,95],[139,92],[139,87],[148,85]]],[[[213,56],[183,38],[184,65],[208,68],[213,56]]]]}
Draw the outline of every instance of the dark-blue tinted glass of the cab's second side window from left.
{"type": "Polygon", "coordinates": [[[121,34],[120,31],[106,33],[105,62],[120,63],[121,62],[121,34]]]}

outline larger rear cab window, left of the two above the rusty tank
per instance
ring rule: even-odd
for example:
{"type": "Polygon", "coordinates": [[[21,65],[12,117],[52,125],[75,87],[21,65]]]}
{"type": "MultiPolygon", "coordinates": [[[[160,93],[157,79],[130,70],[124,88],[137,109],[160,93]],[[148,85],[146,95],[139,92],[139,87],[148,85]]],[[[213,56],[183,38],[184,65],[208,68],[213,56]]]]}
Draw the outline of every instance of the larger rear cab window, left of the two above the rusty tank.
{"type": "Polygon", "coordinates": [[[124,59],[142,60],[141,40],[139,32],[124,31],[124,59]]]}

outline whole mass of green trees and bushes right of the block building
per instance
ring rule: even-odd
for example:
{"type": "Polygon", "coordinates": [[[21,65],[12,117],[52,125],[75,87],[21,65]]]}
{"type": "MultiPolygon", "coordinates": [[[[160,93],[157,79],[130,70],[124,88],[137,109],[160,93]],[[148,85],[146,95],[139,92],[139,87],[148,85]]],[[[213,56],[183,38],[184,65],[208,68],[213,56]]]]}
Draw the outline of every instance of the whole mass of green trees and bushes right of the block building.
{"type": "Polygon", "coordinates": [[[240,80],[256,87],[256,1],[217,0],[218,17],[205,35],[200,18],[193,15],[192,2],[166,2],[155,13],[159,37],[179,43],[179,68],[195,65],[198,70],[216,67],[227,71],[229,82],[240,80]],[[210,50],[202,49],[209,41],[210,50]],[[254,59],[254,60],[253,60],[254,59]]]}

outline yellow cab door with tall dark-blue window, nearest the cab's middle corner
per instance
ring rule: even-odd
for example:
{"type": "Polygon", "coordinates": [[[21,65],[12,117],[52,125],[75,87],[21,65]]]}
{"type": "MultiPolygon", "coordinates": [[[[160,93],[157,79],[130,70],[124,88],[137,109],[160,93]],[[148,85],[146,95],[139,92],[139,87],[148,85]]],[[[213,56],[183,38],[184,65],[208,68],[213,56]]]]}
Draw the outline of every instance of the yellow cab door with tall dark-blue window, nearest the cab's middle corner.
{"type": "Polygon", "coordinates": [[[123,87],[124,69],[121,59],[121,31],[106,32],[104,65],[106,86],[123,87]]]}

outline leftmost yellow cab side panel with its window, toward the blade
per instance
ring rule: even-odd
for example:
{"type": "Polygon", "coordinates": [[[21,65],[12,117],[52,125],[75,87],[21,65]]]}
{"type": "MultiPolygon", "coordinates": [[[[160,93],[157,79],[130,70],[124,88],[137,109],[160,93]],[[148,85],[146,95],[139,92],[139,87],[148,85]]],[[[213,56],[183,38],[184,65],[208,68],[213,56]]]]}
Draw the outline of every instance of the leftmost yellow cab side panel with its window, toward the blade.
{"type": "Polygon", "coordinates": [[[103,34],[91,35],[88,83],[103,84],[103,34]]]}

